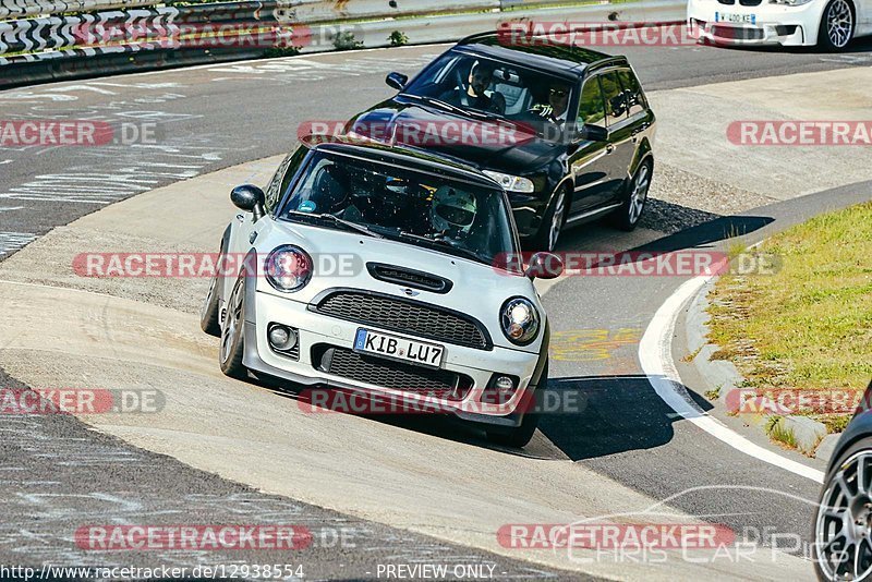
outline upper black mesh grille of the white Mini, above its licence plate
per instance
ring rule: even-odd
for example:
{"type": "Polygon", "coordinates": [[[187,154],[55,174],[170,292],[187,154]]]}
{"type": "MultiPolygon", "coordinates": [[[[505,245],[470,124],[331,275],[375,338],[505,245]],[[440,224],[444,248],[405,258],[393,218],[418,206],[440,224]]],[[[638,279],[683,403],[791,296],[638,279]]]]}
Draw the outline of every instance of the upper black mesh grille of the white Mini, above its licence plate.
{"type": "Polygon", "coordinates": [[[489,338],[473,320],[423,303],[337,291],[325,298],[315,308],[318,313],[349,322],[480,350],[491,349],[489,338]]]}

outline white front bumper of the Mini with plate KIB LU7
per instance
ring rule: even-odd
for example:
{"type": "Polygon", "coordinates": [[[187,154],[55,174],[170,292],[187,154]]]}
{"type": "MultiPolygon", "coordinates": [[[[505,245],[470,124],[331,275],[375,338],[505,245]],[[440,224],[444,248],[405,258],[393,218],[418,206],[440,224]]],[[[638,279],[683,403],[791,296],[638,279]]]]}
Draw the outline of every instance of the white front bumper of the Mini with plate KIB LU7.
{"type": "MultiPolygon", "coordinates": [[[[266,374],[303,386],[340,388],[362,392],[374,398],[384,396],[391,401],[409,403],[417,409],[447,411],[463,420],[499,426],[518,426],[531,401],[528,393],[535,390],[537,374],[542,372],[541,356],[537,353],[494,347],[489,351],[465,348],[451,343],[446,345],[444,368],[462,374],[472,379],[472,388],[461,400],[448,400],[427,393],[397,390],[356,381],[354,379],[332,375],[316,367],[312,361],[313,348],[329,345],[352,350],[354,337],[359,328],[366,327],[378,331],[379,328],[329,317],[307,308],[306,303],[283,299],[254,290],[253,281],[246,284],[245,324],[243,364],[255,374],[266,374]],[[253,308],[252,308],[253,306],[253,308]],[[282,324],[299,330],[299,355],[294,360],[275,352],[267,339],[269,324],[282,324]],[[518,389],[512,398],[502,403],[482,401],[484,389],[494,374],[506,374],[520,378],[518,389]],[[524,403],[524,407],[520,404],[524,403]]],[[[410,339],[419,339],[405,334],[384,329],[386,334],[410,339]]],[[[429,339],[421,341],[433,342],[429,339]]],[[[545,342],[547,350],[547,342],[545,342]]]]}

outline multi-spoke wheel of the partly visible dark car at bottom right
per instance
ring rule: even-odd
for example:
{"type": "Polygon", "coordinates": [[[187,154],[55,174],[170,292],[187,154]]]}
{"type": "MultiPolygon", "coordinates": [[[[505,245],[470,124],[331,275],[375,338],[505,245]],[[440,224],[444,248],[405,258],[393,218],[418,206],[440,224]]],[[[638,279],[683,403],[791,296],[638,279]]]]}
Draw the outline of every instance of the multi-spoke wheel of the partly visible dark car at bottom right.
{"type": "Polygon", "coordinates": [[[812,545],[814,571],[819,580],[869,580],[872,577],[870,477],[872,477],[872,437],[867,437],[848,447],[824,480],[821,499],[814,512],[812,545]],[[858,487],[857,468],[860,465],[865,474],[865,483],[858,487]],[[847,487],[847,492],[844,487],[847,487]],[[829,511],[824,511],[825,506],[829,511]],[[843,543],[839,543],[839,539],[843,543]],[[860,549],[860,568],[859,573],[856,573],[853,562],[858,549],[860,549]],[[856,573],[855,578],[844,575],[849,572],[856,573]]]}

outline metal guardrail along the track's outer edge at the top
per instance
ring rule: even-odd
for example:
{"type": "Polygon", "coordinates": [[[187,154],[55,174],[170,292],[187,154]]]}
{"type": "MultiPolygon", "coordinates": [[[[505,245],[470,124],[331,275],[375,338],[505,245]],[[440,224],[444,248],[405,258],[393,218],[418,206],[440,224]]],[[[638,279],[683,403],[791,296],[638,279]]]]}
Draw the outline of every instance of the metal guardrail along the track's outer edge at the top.
{"type": "MultiPolygon", "coordinates": [[[[0,0],[7,10],[33,0],[0,0]]],[[[41,0],[65,10],[145,0],[41,0]]],[[[148,0],[154,3],[154,0],[148,0]]],[[[138,5],[0,21],[0,87],[337,48],[456,40],[517,20],[675,22],[683,0],[259,0],[138,5]],[[559,1],[557,7],[548,3],[559,1]],[[537,8],[524,8],[534,4],[537,8]],[[428,17],[415,17],[427,15],[428,17]]]]}

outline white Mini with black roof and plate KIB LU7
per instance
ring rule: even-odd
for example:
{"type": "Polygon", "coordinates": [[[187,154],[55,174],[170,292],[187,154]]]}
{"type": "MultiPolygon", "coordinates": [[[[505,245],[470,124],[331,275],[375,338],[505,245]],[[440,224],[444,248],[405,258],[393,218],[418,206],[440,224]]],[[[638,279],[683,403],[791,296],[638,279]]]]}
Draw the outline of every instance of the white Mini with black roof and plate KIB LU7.
{"type": "Polygon", "coordinates": [[[562,265],[511,268],[496,182],[410,148],[303,141],[266,192],[231,199],[221,257],[241,267],[213,280],[201,314],[225,374],[432,404],[497,442],[530,440],[548,374],[533,278],[562,265]]]}

